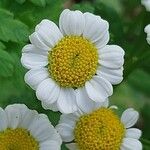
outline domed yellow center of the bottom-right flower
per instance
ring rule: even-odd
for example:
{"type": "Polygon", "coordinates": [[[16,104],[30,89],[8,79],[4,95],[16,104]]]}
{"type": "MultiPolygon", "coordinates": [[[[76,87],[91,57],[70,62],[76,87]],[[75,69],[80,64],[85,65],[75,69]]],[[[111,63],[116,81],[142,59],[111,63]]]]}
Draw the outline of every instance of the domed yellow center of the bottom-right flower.
{"type": "Polygon", "coordinates": [[[74,134],[80,150],[119,150],[125,128],[111,109],[100,108],[81,116],[74,134]]]}

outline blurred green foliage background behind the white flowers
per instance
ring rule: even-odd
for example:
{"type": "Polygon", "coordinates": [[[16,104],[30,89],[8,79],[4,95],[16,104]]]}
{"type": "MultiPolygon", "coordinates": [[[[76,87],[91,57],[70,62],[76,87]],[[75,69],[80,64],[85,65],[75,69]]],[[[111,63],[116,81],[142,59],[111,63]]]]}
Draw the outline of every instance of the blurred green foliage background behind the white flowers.
{"type": "MultiPolygon", "coordinates": [[[[150,150],[150,45],[144,33],[150,12],[140,0],[0,0],[0,106],[25,103],[57,124],[60,114],[42,109],[35,92],[25,84],[27,70],[20,57],[34,27],[45,18],[58,24],[64,8],[92,12],[110,23],[109,44],[126,51],[124,81],[114,87],[111,103],[119,106],[119,113],[127,107],[140,112],[136,127],[143,131],[144,150],[150,150]]],[[[64,145],[62,149],[66,150],[64,145]]]]}

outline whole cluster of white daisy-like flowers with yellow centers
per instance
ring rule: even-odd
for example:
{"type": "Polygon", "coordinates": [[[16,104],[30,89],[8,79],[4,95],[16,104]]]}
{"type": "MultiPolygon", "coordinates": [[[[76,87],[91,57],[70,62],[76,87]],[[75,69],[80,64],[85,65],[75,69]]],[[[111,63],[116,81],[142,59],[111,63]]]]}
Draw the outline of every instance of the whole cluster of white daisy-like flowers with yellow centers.
{"type": "Polygon", "coordinates": [[[43,20],[29,38],[21,58],[29,69],[25,82],[44,109],[62,115],[54,128],[24,104],[0,108],[0,150],[60,150],[62,141],[70,150],[142,149],[141,131],[131,128],[138,112],[129,108],[118,117],[117,106],[109,106],[112,85],[123,80],[124,50],[107,45],[106,20],[66,9],[59,28],[43,20]]]}

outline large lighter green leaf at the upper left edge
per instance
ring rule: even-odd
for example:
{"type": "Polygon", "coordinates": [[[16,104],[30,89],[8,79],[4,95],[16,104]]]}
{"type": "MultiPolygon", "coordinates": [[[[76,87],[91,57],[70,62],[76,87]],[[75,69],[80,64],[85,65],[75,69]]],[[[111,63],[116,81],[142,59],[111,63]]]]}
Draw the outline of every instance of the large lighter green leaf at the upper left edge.
{"type": "Polygon", "coordinates": [[[8,42],[25,42],[29,31],[27,25],[14,19],[13,13],[0,9],[0,40],[8,42]]]}

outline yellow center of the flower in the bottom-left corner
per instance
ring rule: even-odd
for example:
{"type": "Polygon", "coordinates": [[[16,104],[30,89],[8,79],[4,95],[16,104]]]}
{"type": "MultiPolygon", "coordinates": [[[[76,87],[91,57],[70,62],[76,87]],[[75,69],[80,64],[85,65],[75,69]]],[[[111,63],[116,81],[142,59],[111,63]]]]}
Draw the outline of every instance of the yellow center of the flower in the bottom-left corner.
{"type": "Polygon", "coordinates": [[[6,129],[0,132],[0,150],[39,150],[39,145],[26,129],[6,129]]]}

